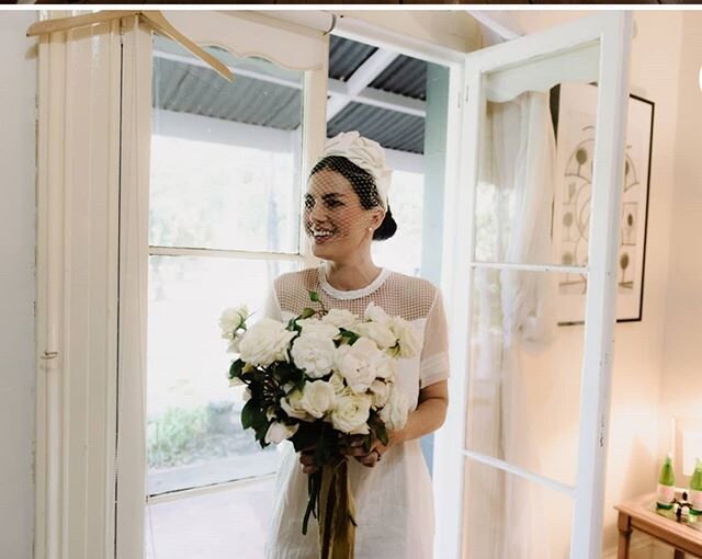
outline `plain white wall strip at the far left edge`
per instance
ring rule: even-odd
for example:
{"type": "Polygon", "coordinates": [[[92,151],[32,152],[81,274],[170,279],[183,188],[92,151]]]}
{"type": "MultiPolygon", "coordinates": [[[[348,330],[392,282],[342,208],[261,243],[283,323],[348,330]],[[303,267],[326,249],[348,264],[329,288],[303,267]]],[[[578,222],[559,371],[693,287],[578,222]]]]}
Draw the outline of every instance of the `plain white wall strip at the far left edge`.
{"type": "Polygon", "coordinates": [[[0,12],[0,557],[32,557],[34,525],[33,12],[0,12]]]}

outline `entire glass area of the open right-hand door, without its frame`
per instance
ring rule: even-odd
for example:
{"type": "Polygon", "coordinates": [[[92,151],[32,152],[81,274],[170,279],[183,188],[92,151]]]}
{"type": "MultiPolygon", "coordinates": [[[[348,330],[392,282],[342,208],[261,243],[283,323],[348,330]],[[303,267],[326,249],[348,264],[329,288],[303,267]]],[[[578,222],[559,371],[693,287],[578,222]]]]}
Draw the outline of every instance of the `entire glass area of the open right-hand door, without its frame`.
{"type": "Polygon", "coordinates": [[[585,329],[561,326],[556,310],[585,322],[595,171],[612,164],[596,160],[600,42],[542,47],[474,72],[469,89],[479,128],[468,174],[467,558],[571,552],[582,425],[596,417],[581,400],[599,374],[584,368],[585,329]]]}

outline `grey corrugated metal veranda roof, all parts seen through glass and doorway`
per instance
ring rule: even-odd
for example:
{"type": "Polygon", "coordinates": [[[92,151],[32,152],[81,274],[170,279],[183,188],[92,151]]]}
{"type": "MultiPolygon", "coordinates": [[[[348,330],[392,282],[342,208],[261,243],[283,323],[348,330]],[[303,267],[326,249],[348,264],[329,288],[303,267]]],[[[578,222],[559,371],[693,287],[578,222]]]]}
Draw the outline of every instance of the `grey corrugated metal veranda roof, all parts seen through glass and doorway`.
{"type": "MultiPolygon", "coordinates": [[[[176,45],[160,41],[160,50],[167,55],[179,54],[176,45]]],[[[373,46],[332,36],[329,77],[348,80],[375,50],[373,46]]],[[[218,52],[216,56],[234,67],[236,77],[229,83],[210,68],[189,64],[191,55],[180,55],[180,59],[154,59],[154,106],[282,130],[293,130],[301,125],[302,89],[284,83],[284,80],[296,79],[295,72],[268,69],[261,61],[239,60],[229,53],[218,52]],[[237,67],[244,70],[247,65],[283,81],[271,82],[237,75],[237,67]]],[[[424,100],[426,80],[427,62],[399,56],[370,87],[424,100]]],[[[350,103],[327,124],[330,137],[348,130],[359,130],[386,148],[423,152],[424,119],[420,116],[350,103]]]]}

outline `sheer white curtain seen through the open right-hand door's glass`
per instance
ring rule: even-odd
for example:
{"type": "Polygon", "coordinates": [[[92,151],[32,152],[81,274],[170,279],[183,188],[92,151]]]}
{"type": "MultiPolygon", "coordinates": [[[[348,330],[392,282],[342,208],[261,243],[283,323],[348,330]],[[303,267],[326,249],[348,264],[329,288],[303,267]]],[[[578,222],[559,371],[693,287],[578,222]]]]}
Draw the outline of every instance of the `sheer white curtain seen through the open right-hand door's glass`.
{"type": "MultiPolygon", "coordinates": [[[[548,262],[555,163],[548,94],[488,103],[483,148],[484,213],[477,219],[485,230],[477,237],[500,262],[548,262]]],[[[529,429],[529,418],[539,401],[521,361],[523,352],[540,351],[552,339],[553,288],[543,273],[475,275],[473,448],[533,471],[540,471],[540,433],[529,429]]],[[[529,483],[484,467],[473,468],[469,483],[476,498],[468,505],[471,557],[550,557],[547,528],[529,483]]]]}

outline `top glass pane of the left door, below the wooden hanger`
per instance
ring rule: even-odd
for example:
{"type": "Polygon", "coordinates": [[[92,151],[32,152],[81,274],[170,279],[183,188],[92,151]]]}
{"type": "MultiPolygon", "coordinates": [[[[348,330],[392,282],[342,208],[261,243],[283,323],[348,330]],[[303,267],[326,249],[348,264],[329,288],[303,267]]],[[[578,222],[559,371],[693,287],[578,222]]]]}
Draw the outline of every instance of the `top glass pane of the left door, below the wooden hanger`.
{"type": "Polygon", "coordinates": [[[155,42],[149,243],[298,252],[302,71],[155,42]]]}

